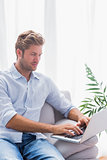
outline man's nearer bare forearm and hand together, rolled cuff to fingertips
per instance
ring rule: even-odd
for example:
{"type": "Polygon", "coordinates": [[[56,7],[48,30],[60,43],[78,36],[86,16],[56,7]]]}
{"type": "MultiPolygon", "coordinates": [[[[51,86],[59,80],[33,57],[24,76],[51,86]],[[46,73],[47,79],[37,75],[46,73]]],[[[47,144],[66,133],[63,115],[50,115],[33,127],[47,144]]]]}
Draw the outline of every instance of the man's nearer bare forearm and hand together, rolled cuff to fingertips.
{"type": "Polygon", "coordinates": [[[6,127],[20,132],[41,132],[54,134],[67,133],[73,135],[70,130],[74,130],[77,134],[81,133],[81,130],[72,124],[51,125],[35,122],[19,114],[16,114],[13,118],[11,118],[10,121],[6,124],[6,127]]]}

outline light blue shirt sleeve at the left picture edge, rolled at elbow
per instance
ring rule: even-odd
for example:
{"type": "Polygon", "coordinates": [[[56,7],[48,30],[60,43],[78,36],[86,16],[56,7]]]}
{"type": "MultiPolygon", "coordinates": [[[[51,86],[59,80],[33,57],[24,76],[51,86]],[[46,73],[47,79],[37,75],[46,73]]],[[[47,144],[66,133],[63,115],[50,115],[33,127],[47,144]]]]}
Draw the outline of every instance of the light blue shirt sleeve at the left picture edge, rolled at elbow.
{"type": "Polygon", "coordinates": [[[8,121],[16,114],[5,81],[0,78],[0,123],[6,126],[8,121]]]}

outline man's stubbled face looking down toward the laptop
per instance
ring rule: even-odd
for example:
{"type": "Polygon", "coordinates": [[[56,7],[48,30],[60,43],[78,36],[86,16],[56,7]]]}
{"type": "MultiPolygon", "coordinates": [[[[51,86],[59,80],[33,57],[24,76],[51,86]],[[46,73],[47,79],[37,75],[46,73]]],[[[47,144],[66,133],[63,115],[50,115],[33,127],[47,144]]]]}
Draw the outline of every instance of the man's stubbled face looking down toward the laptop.
{"type": "Polygon", "coordinates": [[[19,56],[19,64],[22,69],[26,71],[34,71],[37,69],[37,65],[40,61],[40,57],[42,54],[42,46],[41,45],[31,45],[29,49],[24,51],[24,55],[19,56]]]}

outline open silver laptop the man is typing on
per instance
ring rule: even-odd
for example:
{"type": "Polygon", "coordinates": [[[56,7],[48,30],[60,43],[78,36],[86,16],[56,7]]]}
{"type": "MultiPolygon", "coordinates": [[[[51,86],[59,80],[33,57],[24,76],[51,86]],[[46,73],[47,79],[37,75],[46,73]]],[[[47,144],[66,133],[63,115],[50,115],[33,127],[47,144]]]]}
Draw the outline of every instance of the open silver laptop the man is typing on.
{"type": "Polygon", "coordinates": [[[89,138],[95,136],[96,134],[102,132],[103,130],[107,129],[107,108],[103,109],[102,111],[95,113],[87,127],[83,127],[83,134],[82,135],[67,135],[67,134],[60,134],[55,135],[52,134],[52,138],[56,138],[59,140],[64,140],[72,143],[83,143],[84,141],[88,140],[89,138]]]}

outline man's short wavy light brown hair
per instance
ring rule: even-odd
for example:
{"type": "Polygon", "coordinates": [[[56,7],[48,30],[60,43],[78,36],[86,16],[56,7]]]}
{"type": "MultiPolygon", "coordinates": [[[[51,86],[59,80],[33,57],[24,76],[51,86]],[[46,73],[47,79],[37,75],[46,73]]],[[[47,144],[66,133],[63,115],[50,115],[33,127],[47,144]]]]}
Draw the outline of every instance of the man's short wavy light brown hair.
{"type": "Polygon", "coordinates": [[[44,41],[44,38],[39,33],[35,33],[32,30],[23,32],[17,38],[15,51],[17,51],[17,49],[19,48],[24,54],[24,51],[26,49],[29,49],[31,45],[43,45],[44,41]]]}

